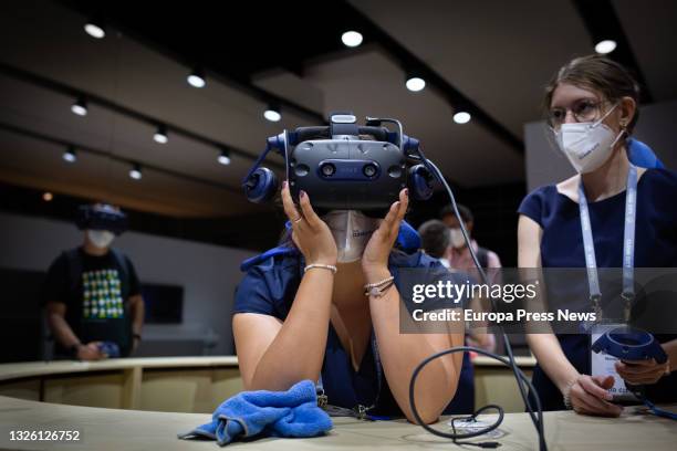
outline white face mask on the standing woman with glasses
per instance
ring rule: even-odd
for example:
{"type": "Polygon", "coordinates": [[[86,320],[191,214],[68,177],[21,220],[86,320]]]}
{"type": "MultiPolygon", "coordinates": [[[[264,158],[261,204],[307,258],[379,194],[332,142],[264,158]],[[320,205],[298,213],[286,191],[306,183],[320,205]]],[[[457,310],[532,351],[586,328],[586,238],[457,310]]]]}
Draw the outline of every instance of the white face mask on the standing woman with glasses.
{"type": "Polygon", "coordinates": [[[604,165],[623,136],[624,132],[614,136],[614,132],[602,124],[602,120],[614,111],[616,105],[594,123],[562,124],[555,132],[560,150],[566,156],[576,172],[592,172],[604,165]]]}

